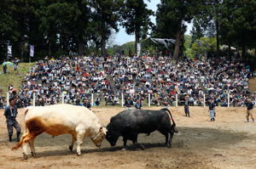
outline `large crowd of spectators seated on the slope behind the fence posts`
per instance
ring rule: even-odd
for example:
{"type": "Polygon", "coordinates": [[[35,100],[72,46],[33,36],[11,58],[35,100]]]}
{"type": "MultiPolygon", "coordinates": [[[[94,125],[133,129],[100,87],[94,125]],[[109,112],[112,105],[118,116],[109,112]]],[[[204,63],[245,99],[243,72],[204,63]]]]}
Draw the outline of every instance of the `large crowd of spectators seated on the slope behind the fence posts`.
{"type": "MultiPolygon", "coordinates": [[[[67,104],[121,104],[124,99],[133,103],[173,105],[202,105],[214,99],[220,106],[241,106],[245,99],[256,99],[248,91],[248,79],[253,76],[242,62],[220,59],[179,61],[166,56],[100,55],[61,57],[39,60],[27,72],[16,93],[20,106],[31,104],[33,93],[37,105],[58,104],[64,97],[67,104]],[[90,103],[91,93],[94,100],[90,103]],[[104,102],[103,102],[104,100],[104,102]]],[[[255,75],[254,75],[255,76],[255,75]]]]}

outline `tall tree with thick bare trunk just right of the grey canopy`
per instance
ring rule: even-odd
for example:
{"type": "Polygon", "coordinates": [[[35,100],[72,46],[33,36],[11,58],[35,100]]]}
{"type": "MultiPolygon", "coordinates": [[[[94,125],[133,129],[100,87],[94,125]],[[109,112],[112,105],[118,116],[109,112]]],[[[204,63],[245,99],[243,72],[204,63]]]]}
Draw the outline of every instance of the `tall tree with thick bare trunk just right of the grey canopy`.
{"type": "Polygon", "coordinates": [[[183,35],[186,28],[184,23],[190,22],[201,11],[201,3],[203,3],[203,0],[161,0],[161,3],[158,5],[156,14],[157,26],[166,27],[166,30],[159,29],[158,31],[166,32],[167,30],[172,30],[169,36],[175,33],[174,59],[178,59],[183,45],[183,35]]]}

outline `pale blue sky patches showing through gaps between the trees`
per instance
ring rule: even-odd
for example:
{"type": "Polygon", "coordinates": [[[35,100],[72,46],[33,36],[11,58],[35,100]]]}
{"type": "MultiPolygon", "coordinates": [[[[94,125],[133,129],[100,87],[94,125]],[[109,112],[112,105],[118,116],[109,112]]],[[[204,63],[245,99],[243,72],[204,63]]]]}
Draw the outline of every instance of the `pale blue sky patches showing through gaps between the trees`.
{"type": "MultiPolygon", "coordinates": [[[[151,0],[150,3],[146,1],[146,3],[148,4],[148,8],[152,9],[155,12],[157,9],[156,5],[160,3],[160,0],[151,0]]],[[[155,24],[155,17],[151,16],[151,20],[155,24]]],[[[185,34],[189,34],[190,30],[191,30],[191,25],[188,25],[188,28],[185,34]]],[[[115,38],[114,38],[114,44],[121,45],[121,44],[124,44],[125,42],[131,42],[134,40],[135,40],[134,35],[127,35],[127,33],[125,33],[125,28],[119,27],[119,32],[115,35],[115,38]]]]}

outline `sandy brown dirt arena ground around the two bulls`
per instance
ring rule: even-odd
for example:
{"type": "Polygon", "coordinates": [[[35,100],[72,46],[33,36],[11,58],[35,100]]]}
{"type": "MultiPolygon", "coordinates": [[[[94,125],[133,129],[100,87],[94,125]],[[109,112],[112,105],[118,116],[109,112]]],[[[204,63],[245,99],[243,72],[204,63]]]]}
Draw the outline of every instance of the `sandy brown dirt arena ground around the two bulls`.
{"type": "MultiPolygon", "coordinates": [[[[158,110],[160,107],[152,107],[158,110]]],[[[22,160],[22,150],[11,151],[15,143],[7,141],[8,135],[3,110],[0,110],[0,168],[26,169],[171,169],[171,168],[256,168],[256,123],[245,121],[246,108],[217,108],[217,121],[209,121],[206,108],[190,107],[191,117],[183,114],[183,107],[171,107],[180,133],[174,135],[172,149],[163,146],[165,137],[159,132],[150,136],[140,134],[139,143],[145,150],[122,151],[122,138],[115,149],[106,140],[98,149],[89,138],[84,139],[82,156],[67,150],[70,136],[51,138],[40,135],[35,142],[37,158],[22,160]]],[[[92,109],[102,125],[124,108],[108,107],[92,109]]],[[[18,120],[24,128],[22,110],[18,120]]],[[[253,110],[256,116],[256,110],[253,110]]],[[[131,142],[129,142],[131,144],[131,142]]]]}

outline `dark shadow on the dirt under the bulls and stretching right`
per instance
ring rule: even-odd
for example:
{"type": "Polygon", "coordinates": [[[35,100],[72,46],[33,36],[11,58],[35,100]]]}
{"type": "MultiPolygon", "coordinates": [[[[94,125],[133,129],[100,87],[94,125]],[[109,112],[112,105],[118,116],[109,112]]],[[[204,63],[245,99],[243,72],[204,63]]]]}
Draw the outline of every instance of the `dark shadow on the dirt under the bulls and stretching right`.
{"type": "MultiPolygon", "coordinates": [[[[172,149],[227,149],[230,144],[237,144],[247,139],[247,132],[231,132],[229,130],[218,130],[212,128],[198,127],[177,127],[179,133],[175,134],[172,140],[172,149]]],[[[160,148],[167,149],[163,144],[165,136],[160,132],[152,132],[150,136],[139,134],[138,143],[143,144],[145,149],[160,148]]],[[[52,138],[47,134],[42,134],[36,139],[35,147],[37,155],[40,156],[60,156],[75,155],[76,145],[73,152],[68,152],[67,147],[70,143],[70,136],[62,135],[52,138]],[[55,147],[55,150],[49,150],[55,147]],[[42,149],[44,149],[42,151],[42,149]]],[[[122,149],[122,138],[119,138],[116,147],[111,148],[106,140],[102,142],[102,148],[98,149],[91,143],[90,138],[84,139],[84,147],[82,145],[82,154],[103,153],[120,151],[122,149]]],[[[131,142],[128,143],[127,151],[135,151],[136,149],[131,142]],[[130,145],[129,145],[130,144],[130,145]]]]}

